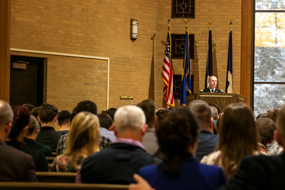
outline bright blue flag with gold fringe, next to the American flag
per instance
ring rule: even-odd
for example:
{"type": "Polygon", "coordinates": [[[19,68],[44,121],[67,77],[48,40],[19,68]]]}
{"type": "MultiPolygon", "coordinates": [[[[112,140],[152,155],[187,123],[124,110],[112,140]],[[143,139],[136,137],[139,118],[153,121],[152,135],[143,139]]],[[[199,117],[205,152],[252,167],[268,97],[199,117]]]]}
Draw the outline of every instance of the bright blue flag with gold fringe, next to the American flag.
{"type": "Polygon", "coordinates": [[[181,91],[180,91],[180,102],[179,105],[186,106],[186,93],[187,91],[191,94],[191,68],[190,68],[190,52],[189,52],[189,39],[188,30],[186,30],[186,43],[183,60],[183,71],[181,79],[181,91]],[[187,89],[188,86],[188,89],[187,89]]]}

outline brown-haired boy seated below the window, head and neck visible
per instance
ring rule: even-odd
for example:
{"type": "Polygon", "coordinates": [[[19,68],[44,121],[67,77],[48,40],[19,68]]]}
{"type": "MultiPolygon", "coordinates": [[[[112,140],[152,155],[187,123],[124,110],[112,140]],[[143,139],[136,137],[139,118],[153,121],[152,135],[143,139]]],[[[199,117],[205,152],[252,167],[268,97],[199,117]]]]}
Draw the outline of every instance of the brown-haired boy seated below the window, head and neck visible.
{"type": "Polygon", "coordinates": [[[274,131],[276,130],[275,123],[269,118],[259,118],[255,121],[259,134],[259,150],[261,154],[267,155],[266,145],[272,143],[274,131]]]}

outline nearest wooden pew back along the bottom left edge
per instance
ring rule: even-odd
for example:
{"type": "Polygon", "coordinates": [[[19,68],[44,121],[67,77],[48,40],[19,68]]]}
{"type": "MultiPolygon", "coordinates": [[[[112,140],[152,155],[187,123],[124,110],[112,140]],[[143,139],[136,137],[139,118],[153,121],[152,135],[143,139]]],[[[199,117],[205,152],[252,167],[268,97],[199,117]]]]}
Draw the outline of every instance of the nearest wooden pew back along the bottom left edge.
{"type": "Polygon", "coordinates": [[[127,190],[129,185],[113,184],[79,184],[79,183],[48,183],[48,182],[0,182],[1,190],[127,190]]]}

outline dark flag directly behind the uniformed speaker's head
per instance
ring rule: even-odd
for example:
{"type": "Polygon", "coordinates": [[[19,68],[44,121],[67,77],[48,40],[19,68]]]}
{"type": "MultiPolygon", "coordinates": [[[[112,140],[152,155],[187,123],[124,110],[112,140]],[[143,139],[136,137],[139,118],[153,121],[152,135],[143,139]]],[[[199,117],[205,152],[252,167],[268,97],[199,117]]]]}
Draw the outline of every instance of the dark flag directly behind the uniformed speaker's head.
{"type": "Polygon", "coordinates": [[[209,77],[213,75],[213,48],[212,48],[212,30],[209,30],[208,36],[208,56],[207,56],[207,67],[205,76],[205,88],[209,87],[209,77]]]}

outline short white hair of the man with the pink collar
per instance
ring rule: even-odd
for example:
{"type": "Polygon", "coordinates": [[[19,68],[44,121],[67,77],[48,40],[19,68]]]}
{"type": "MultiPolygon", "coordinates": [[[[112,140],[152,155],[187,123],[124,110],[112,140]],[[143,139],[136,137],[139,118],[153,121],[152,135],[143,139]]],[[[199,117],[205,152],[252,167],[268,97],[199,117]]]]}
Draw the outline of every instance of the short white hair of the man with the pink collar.
{"type": "Polygon", "coordinates": [[[146,123],[143,110],[131,105],[120,107],[115,115],[114,122],[117,131],[140,130],[146,123]]]}

